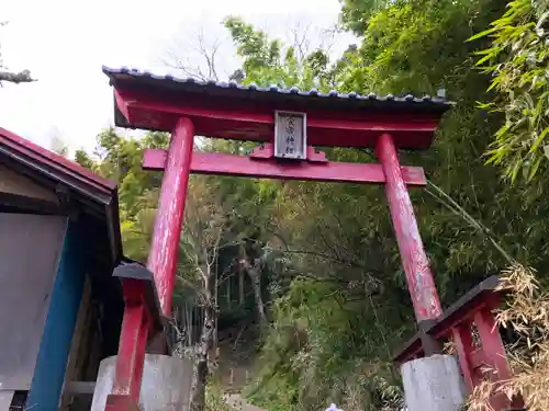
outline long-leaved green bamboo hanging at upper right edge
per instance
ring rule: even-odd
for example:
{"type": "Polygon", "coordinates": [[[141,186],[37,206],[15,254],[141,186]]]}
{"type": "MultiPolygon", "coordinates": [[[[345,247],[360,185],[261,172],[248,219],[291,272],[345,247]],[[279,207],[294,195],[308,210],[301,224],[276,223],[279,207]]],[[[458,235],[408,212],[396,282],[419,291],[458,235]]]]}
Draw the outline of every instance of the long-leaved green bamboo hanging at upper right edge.
{"type": "Polygon", "coordinates": [[[549,158],[548,19],[548,1],[514,0],[490,28],[471,37],[492,39],[477,53],[477,66],[492,75],[489,90],[497,98],[482,109],[503,113],[505,122],[488,155],[512,182],[531,181],[549,158]]]}

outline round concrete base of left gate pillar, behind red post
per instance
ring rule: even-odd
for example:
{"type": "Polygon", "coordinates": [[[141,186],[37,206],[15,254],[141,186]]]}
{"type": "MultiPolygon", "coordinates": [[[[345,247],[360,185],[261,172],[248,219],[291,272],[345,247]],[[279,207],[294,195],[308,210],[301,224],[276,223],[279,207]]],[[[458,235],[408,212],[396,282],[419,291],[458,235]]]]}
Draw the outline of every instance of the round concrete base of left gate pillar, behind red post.
{"type": "MultiPolygon", "coordinates": [[[[114,380],[116,356],[99,366],[91,411],[104,411],[114,380]]],[[[146,354],[139,396],[142,411],[188,411],[192,384],[192,362],[168,355],[146,354]]]]}

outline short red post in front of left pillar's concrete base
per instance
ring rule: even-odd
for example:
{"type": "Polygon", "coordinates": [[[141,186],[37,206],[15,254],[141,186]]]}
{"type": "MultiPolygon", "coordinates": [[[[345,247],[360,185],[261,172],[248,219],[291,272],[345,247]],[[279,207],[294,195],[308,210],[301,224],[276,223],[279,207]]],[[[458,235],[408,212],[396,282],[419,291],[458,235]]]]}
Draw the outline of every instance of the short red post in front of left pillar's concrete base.
{"type": "Polygon", "coordinates": [[[144,302],[144,282],[123,279],[124,317],[111,393],[105,411],[134,411],[138,404],[145,349],[150,327],[144,302]]]}

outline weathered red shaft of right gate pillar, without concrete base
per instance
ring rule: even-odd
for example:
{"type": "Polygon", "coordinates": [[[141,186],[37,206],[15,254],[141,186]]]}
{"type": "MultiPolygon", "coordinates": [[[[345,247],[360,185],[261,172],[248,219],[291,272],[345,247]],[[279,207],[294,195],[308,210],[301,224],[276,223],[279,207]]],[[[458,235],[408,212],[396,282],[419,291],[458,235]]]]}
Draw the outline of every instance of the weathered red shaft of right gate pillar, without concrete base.
{"type": "Polygon", "coordinates": [[[429,261],[423,248],[414,208],[403,179],[396,148],[390,134],[380,136],[377,155],[385,174],[385,192],[396,233],[406,282],[417,321],[442,313],[429,261]]]}

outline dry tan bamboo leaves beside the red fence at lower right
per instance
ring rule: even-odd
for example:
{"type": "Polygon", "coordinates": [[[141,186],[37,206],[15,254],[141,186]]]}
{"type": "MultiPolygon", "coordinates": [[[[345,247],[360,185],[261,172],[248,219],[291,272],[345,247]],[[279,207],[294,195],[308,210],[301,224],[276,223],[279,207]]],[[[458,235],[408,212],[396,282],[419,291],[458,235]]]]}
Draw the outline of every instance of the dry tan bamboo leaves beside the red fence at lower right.
{"type": "Polygon", "coordinates": [[[497,323],[513,327],[519,335],[507,347],[514,377],[495,386],[485,381],[475,387],[468,411],[491,410],[488,399],[495,392],[507,398],[522,395],[529,411],[549,410],[549,294],[540,289],[531,269],[515,264],[503,272],[502,288],[509,288],[507,304],[497,313],[497,323]]]}

